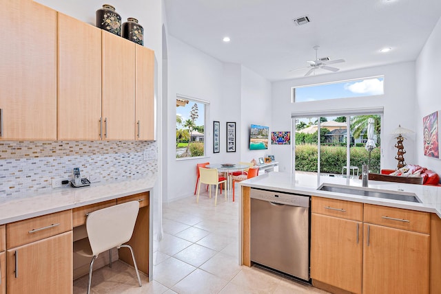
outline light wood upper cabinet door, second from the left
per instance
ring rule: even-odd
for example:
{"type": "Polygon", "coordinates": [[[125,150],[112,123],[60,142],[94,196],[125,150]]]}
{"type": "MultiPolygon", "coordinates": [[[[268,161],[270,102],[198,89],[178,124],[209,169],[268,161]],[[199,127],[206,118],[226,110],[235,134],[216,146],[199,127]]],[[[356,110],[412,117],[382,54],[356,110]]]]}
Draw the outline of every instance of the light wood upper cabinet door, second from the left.
{"type": "Polygon", "coordinates": [[[58,14],[58,139],[101,139],[101,30],[58,14]]]}

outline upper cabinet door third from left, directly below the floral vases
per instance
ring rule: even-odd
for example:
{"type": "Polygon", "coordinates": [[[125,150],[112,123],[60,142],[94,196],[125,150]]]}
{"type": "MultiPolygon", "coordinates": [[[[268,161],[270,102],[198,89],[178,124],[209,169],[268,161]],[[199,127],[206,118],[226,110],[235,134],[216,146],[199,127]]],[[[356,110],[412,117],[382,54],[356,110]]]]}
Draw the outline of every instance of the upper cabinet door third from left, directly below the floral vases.
{"type": "Polygon", "coordinates": [[[135,43],[102,31],[103,132],[107,140],[135,137],[135,43]]]}

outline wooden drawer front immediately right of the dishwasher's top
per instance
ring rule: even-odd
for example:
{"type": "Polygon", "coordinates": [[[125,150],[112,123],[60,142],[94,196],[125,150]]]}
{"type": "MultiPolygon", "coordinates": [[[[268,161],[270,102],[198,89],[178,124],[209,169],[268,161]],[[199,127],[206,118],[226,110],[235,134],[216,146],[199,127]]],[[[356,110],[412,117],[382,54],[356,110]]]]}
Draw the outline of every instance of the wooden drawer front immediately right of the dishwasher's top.
{"type": "Polygon", "coordinates": [[[363,203],[312,196],[311,212],[362,221],[363,203]]]}

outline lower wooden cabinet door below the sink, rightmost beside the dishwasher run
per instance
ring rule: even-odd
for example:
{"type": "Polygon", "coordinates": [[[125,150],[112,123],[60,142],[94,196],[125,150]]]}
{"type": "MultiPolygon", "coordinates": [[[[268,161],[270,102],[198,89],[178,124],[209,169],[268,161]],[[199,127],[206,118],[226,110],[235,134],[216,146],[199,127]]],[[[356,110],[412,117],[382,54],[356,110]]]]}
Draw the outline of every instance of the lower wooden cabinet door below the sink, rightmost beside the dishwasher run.
{"type": "Polygon", "coordinates": [[[365,224],[363,293],[429,293],[430,236],[365,224]]]}

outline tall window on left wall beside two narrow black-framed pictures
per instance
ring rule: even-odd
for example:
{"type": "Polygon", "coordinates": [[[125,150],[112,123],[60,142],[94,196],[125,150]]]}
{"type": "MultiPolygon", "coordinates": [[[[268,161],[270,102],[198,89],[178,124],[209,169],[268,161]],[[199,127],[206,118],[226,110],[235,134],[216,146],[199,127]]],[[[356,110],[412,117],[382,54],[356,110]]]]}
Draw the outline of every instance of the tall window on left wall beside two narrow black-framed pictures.
{"type": "Polygon", "coordinates": [[[176,96],[176,159],[205,155],[205,106],[208,102],[176,96]]]}

